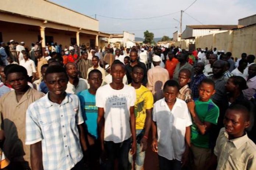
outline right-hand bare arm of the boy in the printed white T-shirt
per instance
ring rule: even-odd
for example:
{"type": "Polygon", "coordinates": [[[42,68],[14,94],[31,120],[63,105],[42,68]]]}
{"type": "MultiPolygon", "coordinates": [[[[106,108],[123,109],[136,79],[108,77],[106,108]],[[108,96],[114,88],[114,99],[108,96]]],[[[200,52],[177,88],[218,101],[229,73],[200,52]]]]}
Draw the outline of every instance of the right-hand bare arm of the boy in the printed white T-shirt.
{"type": "Polygon", "coordinates": [[[136,153],[136,130],[135,130],[134,106],[130,107],[130,126],[131,126],[131,133],[132,133],[132,148],[130,153],[134,155],[136,153]]]}

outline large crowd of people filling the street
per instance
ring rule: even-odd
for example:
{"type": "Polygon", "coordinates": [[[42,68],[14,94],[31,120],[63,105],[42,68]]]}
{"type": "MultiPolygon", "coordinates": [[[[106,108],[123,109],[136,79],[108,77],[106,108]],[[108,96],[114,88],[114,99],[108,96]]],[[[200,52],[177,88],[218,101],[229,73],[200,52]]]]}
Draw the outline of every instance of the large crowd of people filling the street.
{"type": "Polygon", "coordinates": [[[40,43],[1,42],[0,168],[256,169],[254,55],[40,43]]]}

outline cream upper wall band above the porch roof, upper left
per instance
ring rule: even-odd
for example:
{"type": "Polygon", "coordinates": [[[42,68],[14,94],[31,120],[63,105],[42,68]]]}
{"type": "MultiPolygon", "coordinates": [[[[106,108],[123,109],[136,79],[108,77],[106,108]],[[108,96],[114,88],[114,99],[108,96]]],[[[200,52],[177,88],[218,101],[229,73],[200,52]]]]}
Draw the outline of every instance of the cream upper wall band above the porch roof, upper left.
{"type": "Polygon", "coordinates": [[[22,0],[22,3],[20,0],[1,0],[0,10],[78,28],[99,30],[99,21],[46,0],[22,0]]]}

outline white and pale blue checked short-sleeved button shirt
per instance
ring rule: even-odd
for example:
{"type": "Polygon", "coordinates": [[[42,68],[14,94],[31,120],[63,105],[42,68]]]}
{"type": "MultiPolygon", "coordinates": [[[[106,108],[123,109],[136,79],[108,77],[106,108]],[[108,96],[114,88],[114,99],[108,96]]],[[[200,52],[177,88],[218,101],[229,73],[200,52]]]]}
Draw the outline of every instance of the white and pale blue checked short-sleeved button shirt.
{"type": "Polygon", "coordinates": [[[83,157],[77,128],[82,123],[77,95],[67,93],[57,104],[47,93],[26,111],[26,145],[42,141],[45,170],[70,170],[83,157]]]}

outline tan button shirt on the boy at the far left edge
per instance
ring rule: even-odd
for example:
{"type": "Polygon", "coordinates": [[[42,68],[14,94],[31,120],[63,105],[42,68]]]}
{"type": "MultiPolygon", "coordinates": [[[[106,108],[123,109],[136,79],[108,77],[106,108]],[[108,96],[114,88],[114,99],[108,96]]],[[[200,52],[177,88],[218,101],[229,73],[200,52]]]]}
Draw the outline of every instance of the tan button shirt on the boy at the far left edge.
{"type": "Polygon", "coordinates": [[[30,146],[25,145],[26,110],[34,101],[44,94],[29,88],[17,101],[15,90],[0,98],[1,127],[4,130],[5,141],[3,151],[10,161],[30,162],[30,146]]]}

